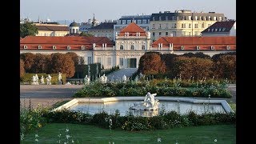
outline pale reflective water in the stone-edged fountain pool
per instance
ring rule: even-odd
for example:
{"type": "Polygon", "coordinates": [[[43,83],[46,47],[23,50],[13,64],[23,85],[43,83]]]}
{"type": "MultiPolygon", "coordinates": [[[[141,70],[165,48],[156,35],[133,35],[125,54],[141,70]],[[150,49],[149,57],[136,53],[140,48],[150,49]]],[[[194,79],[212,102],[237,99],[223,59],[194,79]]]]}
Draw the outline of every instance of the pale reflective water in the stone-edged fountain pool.
{"type": "Polygon", "coordinates": [[[160,101],[159,110],[129,110],[130,106],[134,106],[134,102],[141,101],[120,101],[120,102],[105,102],[105,103],[77,103],[70,107],[70,110],[81,111],[82,113],[96,114],[102,110],[108,114],[114,114],[119,110],[121,116],[126,114],[134,114],[134,116],[152,117],[161,112],[177,111],[179,114],[186,114],[189,111],[194,111],[196,114],[203,113],[225,113],[221,104],[194,104],[190,102],[170,102],[160,101]]]}

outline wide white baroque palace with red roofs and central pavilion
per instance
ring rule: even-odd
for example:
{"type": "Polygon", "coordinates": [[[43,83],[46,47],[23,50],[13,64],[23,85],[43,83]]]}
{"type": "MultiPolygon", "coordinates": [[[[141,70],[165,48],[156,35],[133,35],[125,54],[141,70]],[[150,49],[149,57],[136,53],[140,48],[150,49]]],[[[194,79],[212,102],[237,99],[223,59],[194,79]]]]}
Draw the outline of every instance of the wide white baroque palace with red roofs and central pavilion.
{"type": "Polygon", "coordinates": [[[210,56],[235,52],[235,36],[218,37],[159,37],[150,42],[150,32],[131,22],[115,33],[115,42],[106,37],[48,37],[27,36],[20,39],[20,53],[67,53],[74,52],[85,64],[99,62],[104,68],[120,66],[138,68],[139,59],[146,52],[162,54],[184,54],[202,52],[210,56]]]}

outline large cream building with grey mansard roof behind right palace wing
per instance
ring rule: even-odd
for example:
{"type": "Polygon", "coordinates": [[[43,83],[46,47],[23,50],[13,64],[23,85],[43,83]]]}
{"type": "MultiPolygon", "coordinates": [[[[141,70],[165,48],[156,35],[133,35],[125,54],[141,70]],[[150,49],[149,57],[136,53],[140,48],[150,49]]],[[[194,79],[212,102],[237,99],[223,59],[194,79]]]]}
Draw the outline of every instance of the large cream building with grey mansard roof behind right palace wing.
{"type": "Polygon", "coordinates": [[[197,13],[191,10],[160,11],[151,14],[150,33],[153,41],[160,37],[194,37],[200,36],[202,30],[214,24],[214,22],[226,21],[224,14],[215,12],[197,13]]]}

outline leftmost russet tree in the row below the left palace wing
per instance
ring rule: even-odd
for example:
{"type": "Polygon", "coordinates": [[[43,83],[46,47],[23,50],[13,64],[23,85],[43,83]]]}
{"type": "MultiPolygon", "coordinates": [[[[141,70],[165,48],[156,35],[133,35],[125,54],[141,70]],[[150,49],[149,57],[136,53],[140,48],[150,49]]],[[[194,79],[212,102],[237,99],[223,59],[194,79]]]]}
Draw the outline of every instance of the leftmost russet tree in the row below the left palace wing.
{"type": "Polygon", "coordinates": [[[24,69],[26,73],[34,73],[32,66],[34,66],[35,54],[24,53],[20,55],[20,58],[24,61],[24,69]]]}

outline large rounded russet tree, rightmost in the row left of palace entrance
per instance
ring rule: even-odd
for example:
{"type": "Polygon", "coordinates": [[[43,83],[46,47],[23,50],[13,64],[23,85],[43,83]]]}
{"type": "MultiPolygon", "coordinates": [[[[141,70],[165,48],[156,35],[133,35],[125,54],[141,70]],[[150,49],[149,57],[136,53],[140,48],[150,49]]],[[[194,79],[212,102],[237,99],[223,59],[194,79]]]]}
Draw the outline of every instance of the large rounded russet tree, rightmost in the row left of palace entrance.
{"type": "Polygon", "coordinates": [[[67,78],[73,77],[75,72],[73,59],[68,54],[51,54],[50,72],[62,72],[67,78]]]}

